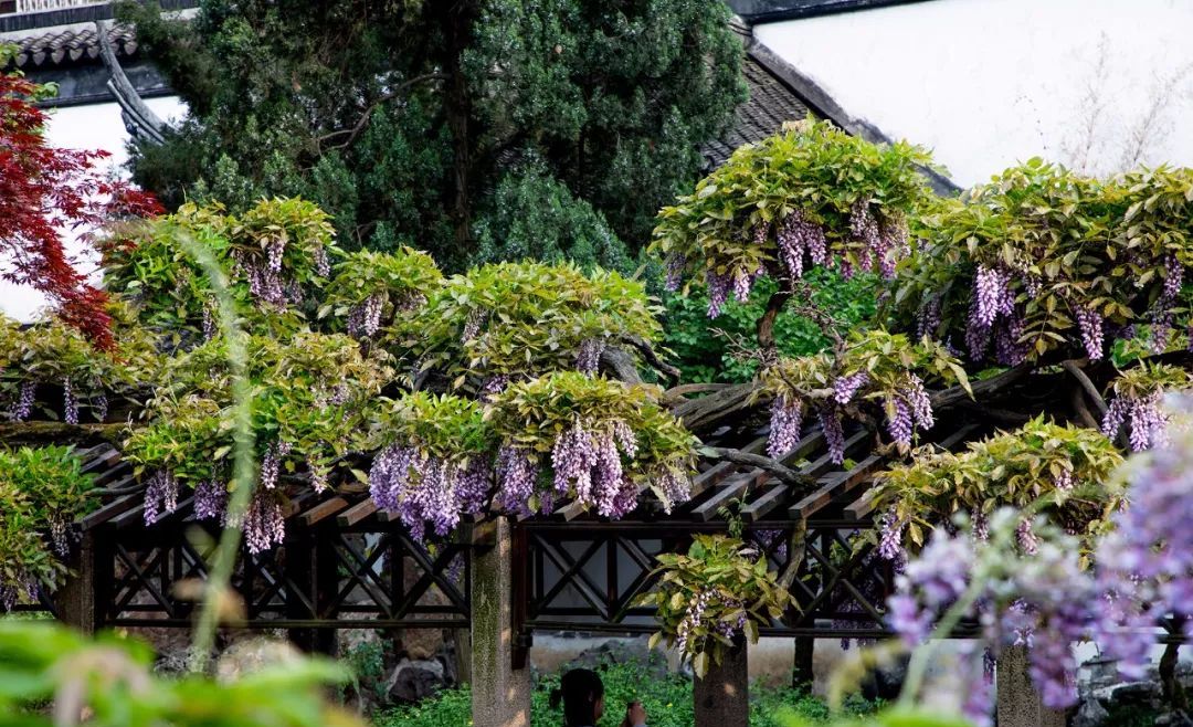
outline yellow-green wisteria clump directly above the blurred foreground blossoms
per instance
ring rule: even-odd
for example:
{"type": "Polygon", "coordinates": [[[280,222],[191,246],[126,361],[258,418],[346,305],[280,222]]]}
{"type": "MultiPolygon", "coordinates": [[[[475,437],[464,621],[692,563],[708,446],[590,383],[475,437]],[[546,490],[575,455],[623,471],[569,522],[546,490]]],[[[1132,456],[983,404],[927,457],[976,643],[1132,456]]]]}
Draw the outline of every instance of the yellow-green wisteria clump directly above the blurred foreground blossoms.
{"type": "MultiPolygon", "coordinates": [[[[871,537],[878,538],[879,553],[894,560],[902,553],[904,532],[917,550],[926,532],[964,512],[977,537],[984,538],[988,519],[999,507],[1024,509],[1043,500],[1053,523],[1082,538],[1084,563],[1111,513],[1123,504],[1123,487],[1112,478],[1121,462],[1102,435],[1043,418],[972,442],[962,452],[925,449],[910,463],[876,479],[871,497],[883,516],[871,537]]],[[[1016,540],[1021,552],[1037,547],[1031,520],[1020,523],[1016,540]]]]}

